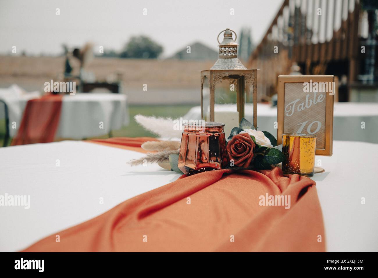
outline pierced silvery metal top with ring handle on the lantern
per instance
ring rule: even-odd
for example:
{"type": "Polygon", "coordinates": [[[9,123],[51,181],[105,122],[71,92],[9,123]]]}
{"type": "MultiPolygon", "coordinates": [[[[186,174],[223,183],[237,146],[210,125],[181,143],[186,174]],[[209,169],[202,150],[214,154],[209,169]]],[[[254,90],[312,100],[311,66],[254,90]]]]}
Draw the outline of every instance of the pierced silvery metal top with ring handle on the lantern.
{"type": "Polygon", "coordinates": [[[211,67],[211,70],[246,70],[247,68],[240,62],[237,57],[238,43],[235,42],[237,35],[235,31],[227,28],[218,34],[218,60],[211,67]],[[223,33],[223,40],[219,42],[219,35],[223,33]],[[232,39],[232,32],[235,34],[235,40],[232,39]]]}

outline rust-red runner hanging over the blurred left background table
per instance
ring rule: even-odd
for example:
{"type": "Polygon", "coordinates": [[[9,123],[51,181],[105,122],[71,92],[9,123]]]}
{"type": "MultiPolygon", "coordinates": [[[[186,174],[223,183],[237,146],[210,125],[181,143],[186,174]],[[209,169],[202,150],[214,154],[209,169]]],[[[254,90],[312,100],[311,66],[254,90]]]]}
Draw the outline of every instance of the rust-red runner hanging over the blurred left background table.
{"type": "Polygon", "coordinates": [[[53,142],[62,110],[62,98],[62,95],[45,95],[30,99],[11,145],[53,142]]]}

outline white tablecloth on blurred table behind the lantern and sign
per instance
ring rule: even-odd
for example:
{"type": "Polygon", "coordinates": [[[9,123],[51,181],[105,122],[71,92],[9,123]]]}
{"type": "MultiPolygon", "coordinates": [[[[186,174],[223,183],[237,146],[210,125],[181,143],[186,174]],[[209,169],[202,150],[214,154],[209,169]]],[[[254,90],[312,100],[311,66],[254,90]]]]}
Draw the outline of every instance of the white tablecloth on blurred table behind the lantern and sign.
{"type": "MultiPolygon", "coordinates": [[[[236,107],[219,106],[221,111],[236,111],[236,107]]],[[[195,106],[183,116],[186,120],[201,118],[201,107],[195,106]]],[[[245,118],[253,122],[253,111],[246,111],[245,118]]],[[[215,119],[217,120],[217,119],[215,119]]],[[[277,136],[274,122],[277,121],[277,107],[257,104],[257,126],[277,136]]],[[[335,103],[333,106],[333,140],[362,141],[378,143],[378,103],[335,103]],[[365,129],[361,129],[361,122],[365,129]]],[[[229,134],[226,134],[229,136],[229,134]]]]}

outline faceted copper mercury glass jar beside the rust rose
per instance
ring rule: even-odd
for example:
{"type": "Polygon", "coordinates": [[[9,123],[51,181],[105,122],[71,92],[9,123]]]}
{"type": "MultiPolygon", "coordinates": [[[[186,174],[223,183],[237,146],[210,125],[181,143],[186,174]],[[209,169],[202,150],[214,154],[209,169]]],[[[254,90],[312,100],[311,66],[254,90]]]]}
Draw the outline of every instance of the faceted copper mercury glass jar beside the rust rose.
{"type": "Polygon", "coordinates": [[[178,168],[187,175],[226,168],[226,136],[222,123],[202,122],[184,126],[178,168]]]}

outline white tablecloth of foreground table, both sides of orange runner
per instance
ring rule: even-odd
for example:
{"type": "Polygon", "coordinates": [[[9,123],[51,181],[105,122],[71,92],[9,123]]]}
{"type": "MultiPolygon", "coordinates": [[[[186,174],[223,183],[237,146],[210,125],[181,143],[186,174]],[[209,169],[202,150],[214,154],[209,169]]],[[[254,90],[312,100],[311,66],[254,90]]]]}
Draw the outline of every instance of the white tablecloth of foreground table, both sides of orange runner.
{"type": "MultiPolygon", "coordinates": [[[[378,145],[333,146],[332,157],[316,157],[325,172],[313,177],[327,251],[378,251],[378,145]]],[[[0,251],[25,248],[180,176],[157,165],[126,164],[142,155],[82,141],[0,148],[0,195],[30,195],[29,209],[0,206],[0,251]]]]}

